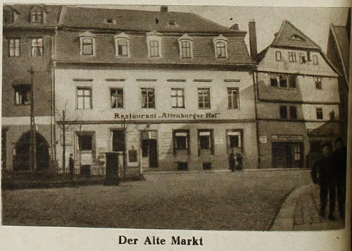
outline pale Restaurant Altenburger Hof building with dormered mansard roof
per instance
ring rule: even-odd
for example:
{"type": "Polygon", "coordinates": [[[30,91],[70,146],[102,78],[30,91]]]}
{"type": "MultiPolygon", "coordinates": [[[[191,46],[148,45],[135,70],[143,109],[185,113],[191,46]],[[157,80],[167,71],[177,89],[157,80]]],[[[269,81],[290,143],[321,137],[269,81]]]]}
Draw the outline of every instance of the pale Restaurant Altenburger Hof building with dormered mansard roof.
{"type": "Polygon", "coordinates": [[[56,121],[77,173],[101,173],[105,152],[120,152],[127,171],[227,169],[232,150],[256,168],[245,34],[167,7],[63,8],[54,62],[65,121],[56,121]]]}

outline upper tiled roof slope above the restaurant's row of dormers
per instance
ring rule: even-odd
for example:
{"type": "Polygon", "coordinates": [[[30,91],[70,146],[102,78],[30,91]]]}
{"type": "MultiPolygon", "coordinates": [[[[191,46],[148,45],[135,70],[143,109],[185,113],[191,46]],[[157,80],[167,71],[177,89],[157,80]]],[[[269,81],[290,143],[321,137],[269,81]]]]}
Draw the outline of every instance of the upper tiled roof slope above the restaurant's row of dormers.
{"type": "Polygon", "coordinates": [[[59,27],[82,29],[137,30],[158,32],[221,32],[236,33],[228,27],[214,23],[194,13],[170,11],[137,11],[112,8],[63,8],[59,27]],[[110,23],[106,20],[110,19],[110,23]]]}

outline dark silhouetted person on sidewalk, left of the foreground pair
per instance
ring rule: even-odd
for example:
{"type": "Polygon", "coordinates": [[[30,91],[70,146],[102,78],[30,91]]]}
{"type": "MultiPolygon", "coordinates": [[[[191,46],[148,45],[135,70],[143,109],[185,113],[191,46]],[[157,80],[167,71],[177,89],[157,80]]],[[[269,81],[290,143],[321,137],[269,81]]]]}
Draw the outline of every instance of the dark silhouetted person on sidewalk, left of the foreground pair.
{"type": "Polygon", "coordinates": [[[322,144],[322,158],[315,162],[311,176],[315,184],[320,185],[320,215],[325,218],[327,207],[327,195],[329,195],[329,220],[334,221],[336,201],[336,171],[332,157],[332,144],[322,144]]]}

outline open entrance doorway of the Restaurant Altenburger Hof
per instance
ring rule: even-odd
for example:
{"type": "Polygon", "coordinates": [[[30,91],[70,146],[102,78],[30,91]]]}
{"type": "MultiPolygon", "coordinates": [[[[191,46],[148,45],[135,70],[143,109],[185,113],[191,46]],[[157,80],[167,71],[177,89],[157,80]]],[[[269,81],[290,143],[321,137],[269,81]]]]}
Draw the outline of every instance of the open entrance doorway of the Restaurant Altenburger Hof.
{"type": "Polygon", "coordinates": [[[142,166],[158,167],[158,140],[157,131],[142,131],[142,166]]]}

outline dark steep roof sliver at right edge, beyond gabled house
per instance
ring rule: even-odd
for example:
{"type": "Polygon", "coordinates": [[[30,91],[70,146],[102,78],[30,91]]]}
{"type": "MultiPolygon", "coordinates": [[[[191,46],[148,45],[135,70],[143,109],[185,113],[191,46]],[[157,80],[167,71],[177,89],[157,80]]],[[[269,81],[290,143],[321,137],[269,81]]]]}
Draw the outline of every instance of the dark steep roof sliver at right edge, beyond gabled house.
{"type": "Polygon", "coordinates": [[[349,76],[349,60],[350,60],[350,44],[348,42],[348,35],[345,26],[335,26],[330,25],[330,30],[332,30],[333,37],[337,44],[337,49],[339,51],[339,57],[341,63],[343,64],[343,71],[346,79],[349,76]]]}

